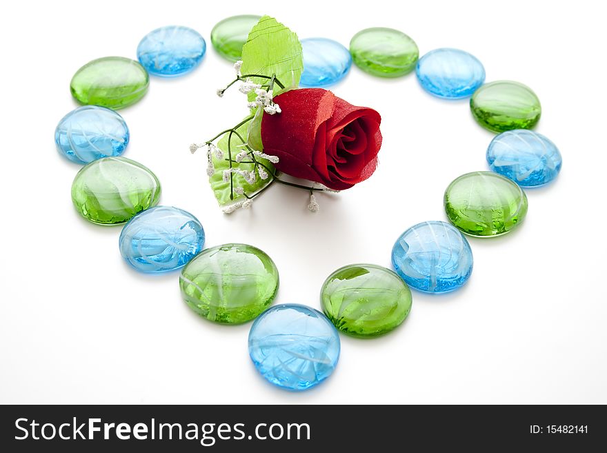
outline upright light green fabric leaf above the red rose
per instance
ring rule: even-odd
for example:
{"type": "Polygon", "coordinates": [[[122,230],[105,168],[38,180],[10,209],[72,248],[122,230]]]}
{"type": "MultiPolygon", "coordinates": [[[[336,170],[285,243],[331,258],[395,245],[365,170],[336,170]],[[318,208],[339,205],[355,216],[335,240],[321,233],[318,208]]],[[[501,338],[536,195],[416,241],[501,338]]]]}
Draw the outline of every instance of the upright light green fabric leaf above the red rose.
{"type": "MultiPolygon", "coordinates": [[[[285,88],[281,89],[275,85],[275,95],[297,87],[304,70],[301,43],[297,34],[269,16],[263,16],[251,29],[242,48],[241,58],[242,74],[261,74],[268,77],[276,74],[285,88]]],[[[268,83],[268,79],[259,77],[254,77],[253,81],[268,83]]],[[[255,93],[249,93],[249,101],[254,99],[255,93]]]]}

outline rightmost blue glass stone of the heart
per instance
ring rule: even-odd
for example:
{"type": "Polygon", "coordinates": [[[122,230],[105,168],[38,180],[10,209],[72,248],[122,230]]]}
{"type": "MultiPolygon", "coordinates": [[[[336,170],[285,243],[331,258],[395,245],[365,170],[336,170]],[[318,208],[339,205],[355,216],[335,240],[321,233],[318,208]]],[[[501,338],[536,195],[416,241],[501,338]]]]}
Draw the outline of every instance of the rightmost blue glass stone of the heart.
{"type": "Polygon", "coordinates": [[[491,170],[518,185],[537,187],[557,177],[563,159],[556,145],[542,134],[517,129],[499,134],[489,143],[487,162],[491,170]]]}

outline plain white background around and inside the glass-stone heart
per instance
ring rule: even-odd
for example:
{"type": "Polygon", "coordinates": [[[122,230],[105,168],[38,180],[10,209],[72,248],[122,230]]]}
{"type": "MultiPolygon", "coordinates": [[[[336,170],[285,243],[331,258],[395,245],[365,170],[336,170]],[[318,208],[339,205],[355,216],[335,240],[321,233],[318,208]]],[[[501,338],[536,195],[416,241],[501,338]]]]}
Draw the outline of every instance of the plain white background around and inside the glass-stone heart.
{"type": "Polygon", "coordinates": [[[598,2],[53,1],[12,3],[1,17],[1,403],[607,403],[604,13],[598,2]],[[399,6],[397,6],[399,5],[399,6]],[[69,83],[99,57],[135,58],[159,26],[195,28],[204,61],[179,79],[153,77],[121,110],[125,157],[159,177],[161,204],[195,214],[206,247],[244,242],[275,260],[276,303],[319,308],[330,272],[348,263],[390,267],[410,225],[444,220],[455,177],[486,170],[493,134],[467,101],[441,101],[415,74],[385,80],[355,66],[334,92],[383,117],[380,165],[368,181],[306,210],[305,192],[277,186],[248,212],[221,214],[201,142],[246,114],[212,49],[210,30],[233,14],[271,14],[300,38],[348,46],[363,28],[410,35],[420,54],[455,47],[484,63],[487,81],[529,85],[542,103],[537,131],[559,146],[555,183],[528,190],[521,228],[470,239],[465,288],[414,292],[400,328],[361,341],[341,336],[335,373],[293,394],[266,383],[247,351],[250,323],[215,325],[181,301],[178,274],[146,276],[118,251],[121,227],[87,223],[70,201],[79,170],[54,149],[55,125],[77,104],[69,83]]]}

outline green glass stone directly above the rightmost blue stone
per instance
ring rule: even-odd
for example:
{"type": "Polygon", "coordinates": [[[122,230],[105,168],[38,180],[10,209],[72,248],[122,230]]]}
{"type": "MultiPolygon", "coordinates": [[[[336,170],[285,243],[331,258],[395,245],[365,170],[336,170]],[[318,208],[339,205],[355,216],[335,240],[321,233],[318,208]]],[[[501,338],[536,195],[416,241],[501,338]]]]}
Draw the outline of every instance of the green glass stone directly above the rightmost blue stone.
{"type": "Polygon", "coordinates": [[[477,123],[494,132],[531,129],[539,121],[541,105],[526,85],[513,81],[486,83],[470,99],[477,123]]]}

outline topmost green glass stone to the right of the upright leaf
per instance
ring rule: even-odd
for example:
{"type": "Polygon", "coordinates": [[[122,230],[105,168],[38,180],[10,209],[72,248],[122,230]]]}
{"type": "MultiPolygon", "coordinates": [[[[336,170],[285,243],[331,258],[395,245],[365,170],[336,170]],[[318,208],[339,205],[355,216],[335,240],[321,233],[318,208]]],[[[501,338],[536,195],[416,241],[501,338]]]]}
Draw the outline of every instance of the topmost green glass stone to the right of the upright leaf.
{"type": "Polygon", "coordinates": [[[354,35],[350,53],[356,66],[379,77],[399,77],[415,68],[417,44],[392,28],[367,28],[354,35]]]}

